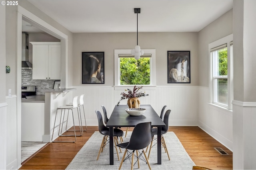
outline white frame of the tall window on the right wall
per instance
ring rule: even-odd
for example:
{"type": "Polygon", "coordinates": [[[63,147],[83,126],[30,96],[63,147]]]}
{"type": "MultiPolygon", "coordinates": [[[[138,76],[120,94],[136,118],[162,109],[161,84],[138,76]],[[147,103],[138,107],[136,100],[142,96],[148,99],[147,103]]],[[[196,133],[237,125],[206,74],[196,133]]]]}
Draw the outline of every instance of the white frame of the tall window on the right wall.
{"type": "MultiPolygon", "coordinates": [[[[210,93],[210,104],[214,104],[214,106],[219,106],[222,108],[226,108],[228,110],[232,110],[232,100],[234,99],[234,88],[233,88],[233,58],[230,57],[233,55],[232,51],[230,50],[230,45],[233,42],[233,34],[230,34],[226,37],[223,37],[222,39],[219,39],[217,41],[214,41],[209,44],[208,48],[208,54],[209,54],[209,93],[210,93]],[[219,47],[221,45],[226,44],[227,46],[227,52],[228,52],[228,106],[224,106],[220,103],[214,102],[214,80],[213,80],[213,58],[211,55],[211,49],[214,49],[215,47],[219,47]],[[232,55],[230,55],[232,53],[232,55]]],[[[224,78],[226,76],[223,76],[224,78]]]]}

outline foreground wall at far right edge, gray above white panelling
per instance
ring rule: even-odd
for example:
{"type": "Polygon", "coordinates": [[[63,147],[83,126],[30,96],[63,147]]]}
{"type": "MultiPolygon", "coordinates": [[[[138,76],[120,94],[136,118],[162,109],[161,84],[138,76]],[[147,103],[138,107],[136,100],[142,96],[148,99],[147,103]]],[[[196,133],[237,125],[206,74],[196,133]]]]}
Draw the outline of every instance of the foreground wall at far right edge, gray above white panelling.
{"type": "Polygon", "coordinates": [[[233,168],[256,169],[255,0],[234,0],[233,168]],[[242,66],[241,66],[242,65],[242,66]]]}

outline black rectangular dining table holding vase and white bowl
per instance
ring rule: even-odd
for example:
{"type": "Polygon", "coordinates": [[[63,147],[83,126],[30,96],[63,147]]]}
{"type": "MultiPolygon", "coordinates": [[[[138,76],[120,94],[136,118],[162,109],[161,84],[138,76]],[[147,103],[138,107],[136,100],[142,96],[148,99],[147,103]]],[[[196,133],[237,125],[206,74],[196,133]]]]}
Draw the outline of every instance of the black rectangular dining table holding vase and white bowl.
{"type": "Polygon", "coordinates": [[[146,111],[139,116],[129,115],[125,109],[128,105],[115,106],[112,114],[106,124],[109,128],[109,143],[110,143],[110,165],[114,164],[114,143],[113,143],[113,129],[118,127],[135,127],[138,123],[151,122],[152,127],[157,127],[157,164],[161,164],[161,128],[165,127],[165,123],[156,113],[151,105],[140,105],[140,108],[146,111]]]}

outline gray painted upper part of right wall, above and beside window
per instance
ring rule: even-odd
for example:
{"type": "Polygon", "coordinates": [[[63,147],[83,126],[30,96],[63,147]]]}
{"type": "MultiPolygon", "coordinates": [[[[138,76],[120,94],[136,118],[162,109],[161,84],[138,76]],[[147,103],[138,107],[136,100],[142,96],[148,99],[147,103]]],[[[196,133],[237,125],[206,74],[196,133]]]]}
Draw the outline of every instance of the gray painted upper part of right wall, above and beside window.
{"type": "Polygon", "coordinates": [[[198,32],[198,77],[199,86],[209,86],[208,45],[233,33],[233,9],[226,12],[198,32]]]}

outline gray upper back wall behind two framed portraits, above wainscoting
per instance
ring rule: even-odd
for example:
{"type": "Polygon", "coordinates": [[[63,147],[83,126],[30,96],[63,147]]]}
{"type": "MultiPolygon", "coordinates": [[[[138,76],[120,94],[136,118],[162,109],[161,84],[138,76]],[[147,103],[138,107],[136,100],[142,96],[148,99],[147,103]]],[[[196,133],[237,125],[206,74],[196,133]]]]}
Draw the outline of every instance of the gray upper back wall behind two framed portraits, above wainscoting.
{"type": "MultiPolygon", "coordinates": [[[[136,33],[74,33],[73,34],[73,86],[82,84],[82,52],[104,51],[105,84],[114,85],[114,49],[133,49],[136,33]]],[[[138,33],[142,49],[156,49],[157,86],[198,86],[198,33],[138,33]],[[191,84],[167,83],[167,51],[190,51],[191,84]]],[[[99,85],[99,84],[97,84],[99,85]]],[[[93,86],[93,85],[92,85],[93,86]]]]}

